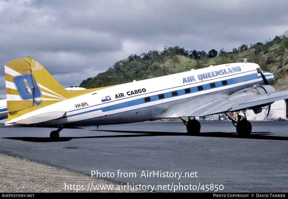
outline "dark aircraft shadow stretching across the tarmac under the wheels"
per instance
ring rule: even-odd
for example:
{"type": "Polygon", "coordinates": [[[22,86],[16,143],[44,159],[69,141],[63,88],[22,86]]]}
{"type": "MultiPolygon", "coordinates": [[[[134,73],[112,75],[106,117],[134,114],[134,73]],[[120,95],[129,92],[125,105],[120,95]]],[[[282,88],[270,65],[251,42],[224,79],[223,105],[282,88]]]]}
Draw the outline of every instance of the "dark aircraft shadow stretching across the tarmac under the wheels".
{"type": "Polygon", "coordinates": [[[105,131],[114,133],[129,133],[127,135],[99,135],[99,136],[83,136],[83,137],[59,137],[53,140],[50,137],[2,137],[11,140],[22,140],[27,142],[67,142],[72,139],[81,138],[108,138],[108,137],[144,137],[144,136],[200,136],[200,137],[230,137],[230,138],[246,138],[246,139],[262,139],[262,140],[288,140],[288,137],[269,136],[273,135],[271,132],[252,132],[248,137],[239,136],[237,133],[224,132],[205,132],[198,135],[189,135],[187,133],[172,133],[172,132],[155,132],[155,131],[118,131],[118,130],[91,130],[91,131],[105,131]],[[133,133],[134,135],[131,135],[133,133]]]}

